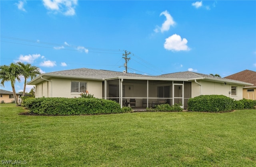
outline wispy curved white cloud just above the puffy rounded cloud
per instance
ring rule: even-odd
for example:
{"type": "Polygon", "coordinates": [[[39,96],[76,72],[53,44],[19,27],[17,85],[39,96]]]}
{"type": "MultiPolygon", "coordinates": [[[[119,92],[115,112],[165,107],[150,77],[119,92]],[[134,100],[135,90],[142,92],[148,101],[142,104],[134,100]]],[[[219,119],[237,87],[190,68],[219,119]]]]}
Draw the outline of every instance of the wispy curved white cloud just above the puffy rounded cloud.
{"type": "Polygon", "coordinates": [[[168,31],[170,29],[170,26],[174,26],[176,23],[174,22],[172,16],[169,14],[169,12],[166,10],[160,14],[160,16],[164,15],[166,17],[165,22],[162,24],[162,27],[157,26],[154,31],[156,33],[159,32],[159,30],[163,33],[164,31],[168,31]]]}

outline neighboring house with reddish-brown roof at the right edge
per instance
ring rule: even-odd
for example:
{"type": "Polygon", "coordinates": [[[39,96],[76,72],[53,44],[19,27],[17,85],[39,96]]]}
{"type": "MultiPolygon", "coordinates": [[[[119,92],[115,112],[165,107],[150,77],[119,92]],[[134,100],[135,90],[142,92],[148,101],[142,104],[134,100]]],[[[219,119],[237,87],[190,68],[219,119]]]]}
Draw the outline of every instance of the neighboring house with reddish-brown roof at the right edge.
{"type": "Polygon", "coordinates": [[[252,83],[253,85],[246,85],[243,88],[243,98],[256,100],[256,72],[251,70],[244,70],[233,75],[224,77],[226,79],[234,79],[246,83],[252,83]]]}

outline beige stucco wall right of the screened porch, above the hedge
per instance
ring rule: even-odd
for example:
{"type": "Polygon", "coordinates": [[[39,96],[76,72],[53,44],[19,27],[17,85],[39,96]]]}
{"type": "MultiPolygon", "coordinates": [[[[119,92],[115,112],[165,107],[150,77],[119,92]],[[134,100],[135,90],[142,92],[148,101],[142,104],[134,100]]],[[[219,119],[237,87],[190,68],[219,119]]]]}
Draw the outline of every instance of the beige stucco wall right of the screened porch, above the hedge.
{"type": "Polygon", "coordinates": [[[241,85],[224,84],[209,81],[198,81],[198,83],[201,84],[201,86],[195,82],[192,82],[192,97],[196,97],[201,94],[219,94],[234,98],[235,100],[240,100],[243,98],[243,86],[241,85]],[[229,94],[229,92],[231,92],[231,86],[237,87],[236,96],[232,96],[231,94],[229,94]]]}

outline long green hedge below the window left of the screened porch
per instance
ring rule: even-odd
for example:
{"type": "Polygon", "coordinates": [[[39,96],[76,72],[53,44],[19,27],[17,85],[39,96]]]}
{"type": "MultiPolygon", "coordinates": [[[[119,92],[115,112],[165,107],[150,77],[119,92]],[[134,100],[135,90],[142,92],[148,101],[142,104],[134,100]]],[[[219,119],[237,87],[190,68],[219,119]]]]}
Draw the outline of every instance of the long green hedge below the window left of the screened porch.
{"type": "Polygon", "coordinates": [[[120,104],[98,98],[28,98],[23,105],[30,114],[80,115],[121,113],[120,104]]]}

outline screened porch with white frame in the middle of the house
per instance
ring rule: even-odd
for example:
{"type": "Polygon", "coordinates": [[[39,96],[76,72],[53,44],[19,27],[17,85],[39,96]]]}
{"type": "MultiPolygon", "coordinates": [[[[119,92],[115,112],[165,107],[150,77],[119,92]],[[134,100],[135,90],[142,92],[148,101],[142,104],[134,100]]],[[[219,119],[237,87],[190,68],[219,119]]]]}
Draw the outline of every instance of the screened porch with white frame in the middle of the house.
{"type": "Polygon", "coordinates": [[[153,78],[118,78],[103,82],[102,96],[120,103],[121,107],[154,107],[158,104],[181,104],[188,107],[191,98],[191,82],[168,81],[153,78]]]}

